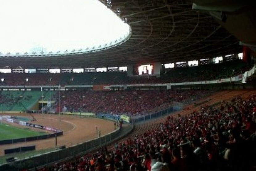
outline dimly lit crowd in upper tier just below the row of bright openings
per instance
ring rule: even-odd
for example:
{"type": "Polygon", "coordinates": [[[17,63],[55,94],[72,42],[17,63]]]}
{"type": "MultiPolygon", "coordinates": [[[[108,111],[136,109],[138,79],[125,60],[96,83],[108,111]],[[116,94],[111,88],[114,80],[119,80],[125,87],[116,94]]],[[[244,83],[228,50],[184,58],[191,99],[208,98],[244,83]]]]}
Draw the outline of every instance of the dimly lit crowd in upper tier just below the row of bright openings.
{"type": "Polygon", "coordinates": [[[166,69],[160,77],[128,77],[127,72],[91,73],[0,73],[0,85],[99,85],[194,82],[230,78],[244,73],[252,64],[241,60],[166,69]],[[4,80],[2,80],[4,79],[4,80]]]}

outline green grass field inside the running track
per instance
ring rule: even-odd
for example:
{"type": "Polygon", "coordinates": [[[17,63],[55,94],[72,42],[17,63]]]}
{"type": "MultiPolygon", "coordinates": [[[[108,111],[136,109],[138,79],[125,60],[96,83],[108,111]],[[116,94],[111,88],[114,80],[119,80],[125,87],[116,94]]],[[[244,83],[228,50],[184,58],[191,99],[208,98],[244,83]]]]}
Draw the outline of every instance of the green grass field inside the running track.
{"type": "Polygon", "coordinates": [[[9,140],[15,138],[33,137],[38,135],[45,135],[45,132],[36,132],[27,128],[18,128],[8,124],[0,124],[0,140],[9,140]]]}

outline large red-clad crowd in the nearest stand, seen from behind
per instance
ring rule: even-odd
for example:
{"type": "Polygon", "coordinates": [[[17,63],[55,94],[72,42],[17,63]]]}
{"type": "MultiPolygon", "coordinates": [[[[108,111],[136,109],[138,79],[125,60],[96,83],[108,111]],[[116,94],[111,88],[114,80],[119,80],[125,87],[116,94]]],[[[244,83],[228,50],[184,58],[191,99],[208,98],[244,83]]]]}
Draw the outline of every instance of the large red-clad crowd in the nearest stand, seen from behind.
{"type": "Polygon", "coordinates": [[[256,94],[188,116],[168,116],[159,129],[40,171],[247,171],[256,165],[256,94]]]}

